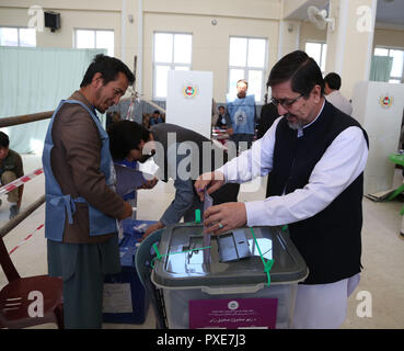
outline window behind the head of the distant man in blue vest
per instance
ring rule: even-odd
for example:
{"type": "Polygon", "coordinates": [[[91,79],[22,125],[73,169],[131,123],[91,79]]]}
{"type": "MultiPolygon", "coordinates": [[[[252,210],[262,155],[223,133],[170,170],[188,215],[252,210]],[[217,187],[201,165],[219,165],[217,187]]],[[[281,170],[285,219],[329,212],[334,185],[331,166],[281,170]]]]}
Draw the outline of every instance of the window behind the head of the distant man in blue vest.
{"type": "Polygon", "coordinates": [[[264,38],[230,37],[230,94],[235,93],[238,80],[245,79],[249,82],[247,93],[254,94],[255,101],[263,100],[266,52],[267,44],[264,38]]]}

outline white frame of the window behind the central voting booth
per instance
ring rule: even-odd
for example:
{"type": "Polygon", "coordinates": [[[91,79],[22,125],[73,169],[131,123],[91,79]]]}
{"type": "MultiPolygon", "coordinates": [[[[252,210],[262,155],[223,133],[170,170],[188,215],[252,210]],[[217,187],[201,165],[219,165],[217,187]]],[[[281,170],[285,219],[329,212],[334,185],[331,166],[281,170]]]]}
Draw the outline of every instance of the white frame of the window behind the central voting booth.
{"type": "Polygon", "coordinates": [[[169,66],[169,70],[175,70],[175,67],[186,67],[188,68],[188,70],[193,69],[193,44],[194,44],[194,34],[192,32],[168,32],[168,31],[153,31],[153,48],[152,48],[152,81],[153,81],[153,87],[152,87],[152,99],[154,101],[166,101],[166,97],[158,97],[157,95],[157,67],[158,66],[169,66]],[[162,61],[155,61],[154,60],[154,53],[155,53],[155,34],[170,34],[173,35],[173,43],[172,43],[172,53],[171,53],[171,63],[162,63],[162,61]],[[189,35],[191,36],[191,63],[189,64],[176,64],[174,63],[174,57],[175,57],[175,53],[174,53],[174,45],[175,45],[175,41],[174,41],[174,36],[178,34],[178,35],[189,35]]]}

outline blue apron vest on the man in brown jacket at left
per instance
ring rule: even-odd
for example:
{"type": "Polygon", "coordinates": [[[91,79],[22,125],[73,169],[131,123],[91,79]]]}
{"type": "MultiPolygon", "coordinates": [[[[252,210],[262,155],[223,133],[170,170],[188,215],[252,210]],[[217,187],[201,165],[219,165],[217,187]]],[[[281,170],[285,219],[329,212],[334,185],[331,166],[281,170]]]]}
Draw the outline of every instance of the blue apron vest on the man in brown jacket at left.
{"type": "MultiPolygon", "coordinates": [[[[113,161],[109,154],[108,135],[101,125],[99,118],[94,112],[91,111],[85,104],[77,100],[62,100],[59,106],[56,109],[51,116],[48,131],[45,138],[44,152],[42,157],[44,173],[45,173],[45,194],[46,194],[46,212],[45,212],[45,237],[55,241],[62,241],[66,214],[68,216],[69,224],[73,223],[73,214],[76,212],[76,202],[88,203],[83,197],[72,199],[69,194],[65,195],[61,192],[60,185],[57,182],[50,167],[50,151],[54,148],[54,140],[51,138],[51,128],[55,117],[65,103],[80,104],[85,111],[89,112],[93,118],[102,140],[101,148],[101,163],[100,171],[105,176],[106,185],[113,188],[115,181],[115,172],[113,161]]],[[[117,231],[116,219],[106,216],[101,211],[94,208],[88,203],[89,206],[89,223],[90,223],[90,236],[99,236],[117,231]]]]}

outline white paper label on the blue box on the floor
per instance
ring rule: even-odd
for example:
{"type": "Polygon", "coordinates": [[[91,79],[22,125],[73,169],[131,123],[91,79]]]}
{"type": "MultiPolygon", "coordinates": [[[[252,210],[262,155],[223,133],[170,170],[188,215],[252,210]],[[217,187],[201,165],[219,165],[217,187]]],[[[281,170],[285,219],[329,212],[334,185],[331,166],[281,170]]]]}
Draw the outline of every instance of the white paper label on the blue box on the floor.
{"type": "Polygon", "coordinates": [[[130,283],[104,284],[104,314],[128,314],[132,312],[130,283]]]}

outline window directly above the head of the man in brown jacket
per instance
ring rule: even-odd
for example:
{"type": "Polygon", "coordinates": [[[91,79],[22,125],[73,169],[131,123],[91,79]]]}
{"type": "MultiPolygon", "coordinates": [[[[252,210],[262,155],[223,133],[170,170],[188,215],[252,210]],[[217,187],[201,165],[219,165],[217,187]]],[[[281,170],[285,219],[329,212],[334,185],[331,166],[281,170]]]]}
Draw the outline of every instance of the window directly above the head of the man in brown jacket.
{"type": "Polygon", "coordinates": [[[76,48],[106,48],[108,56],[114,56],[114,31],[76,30],[76,48]]]}

